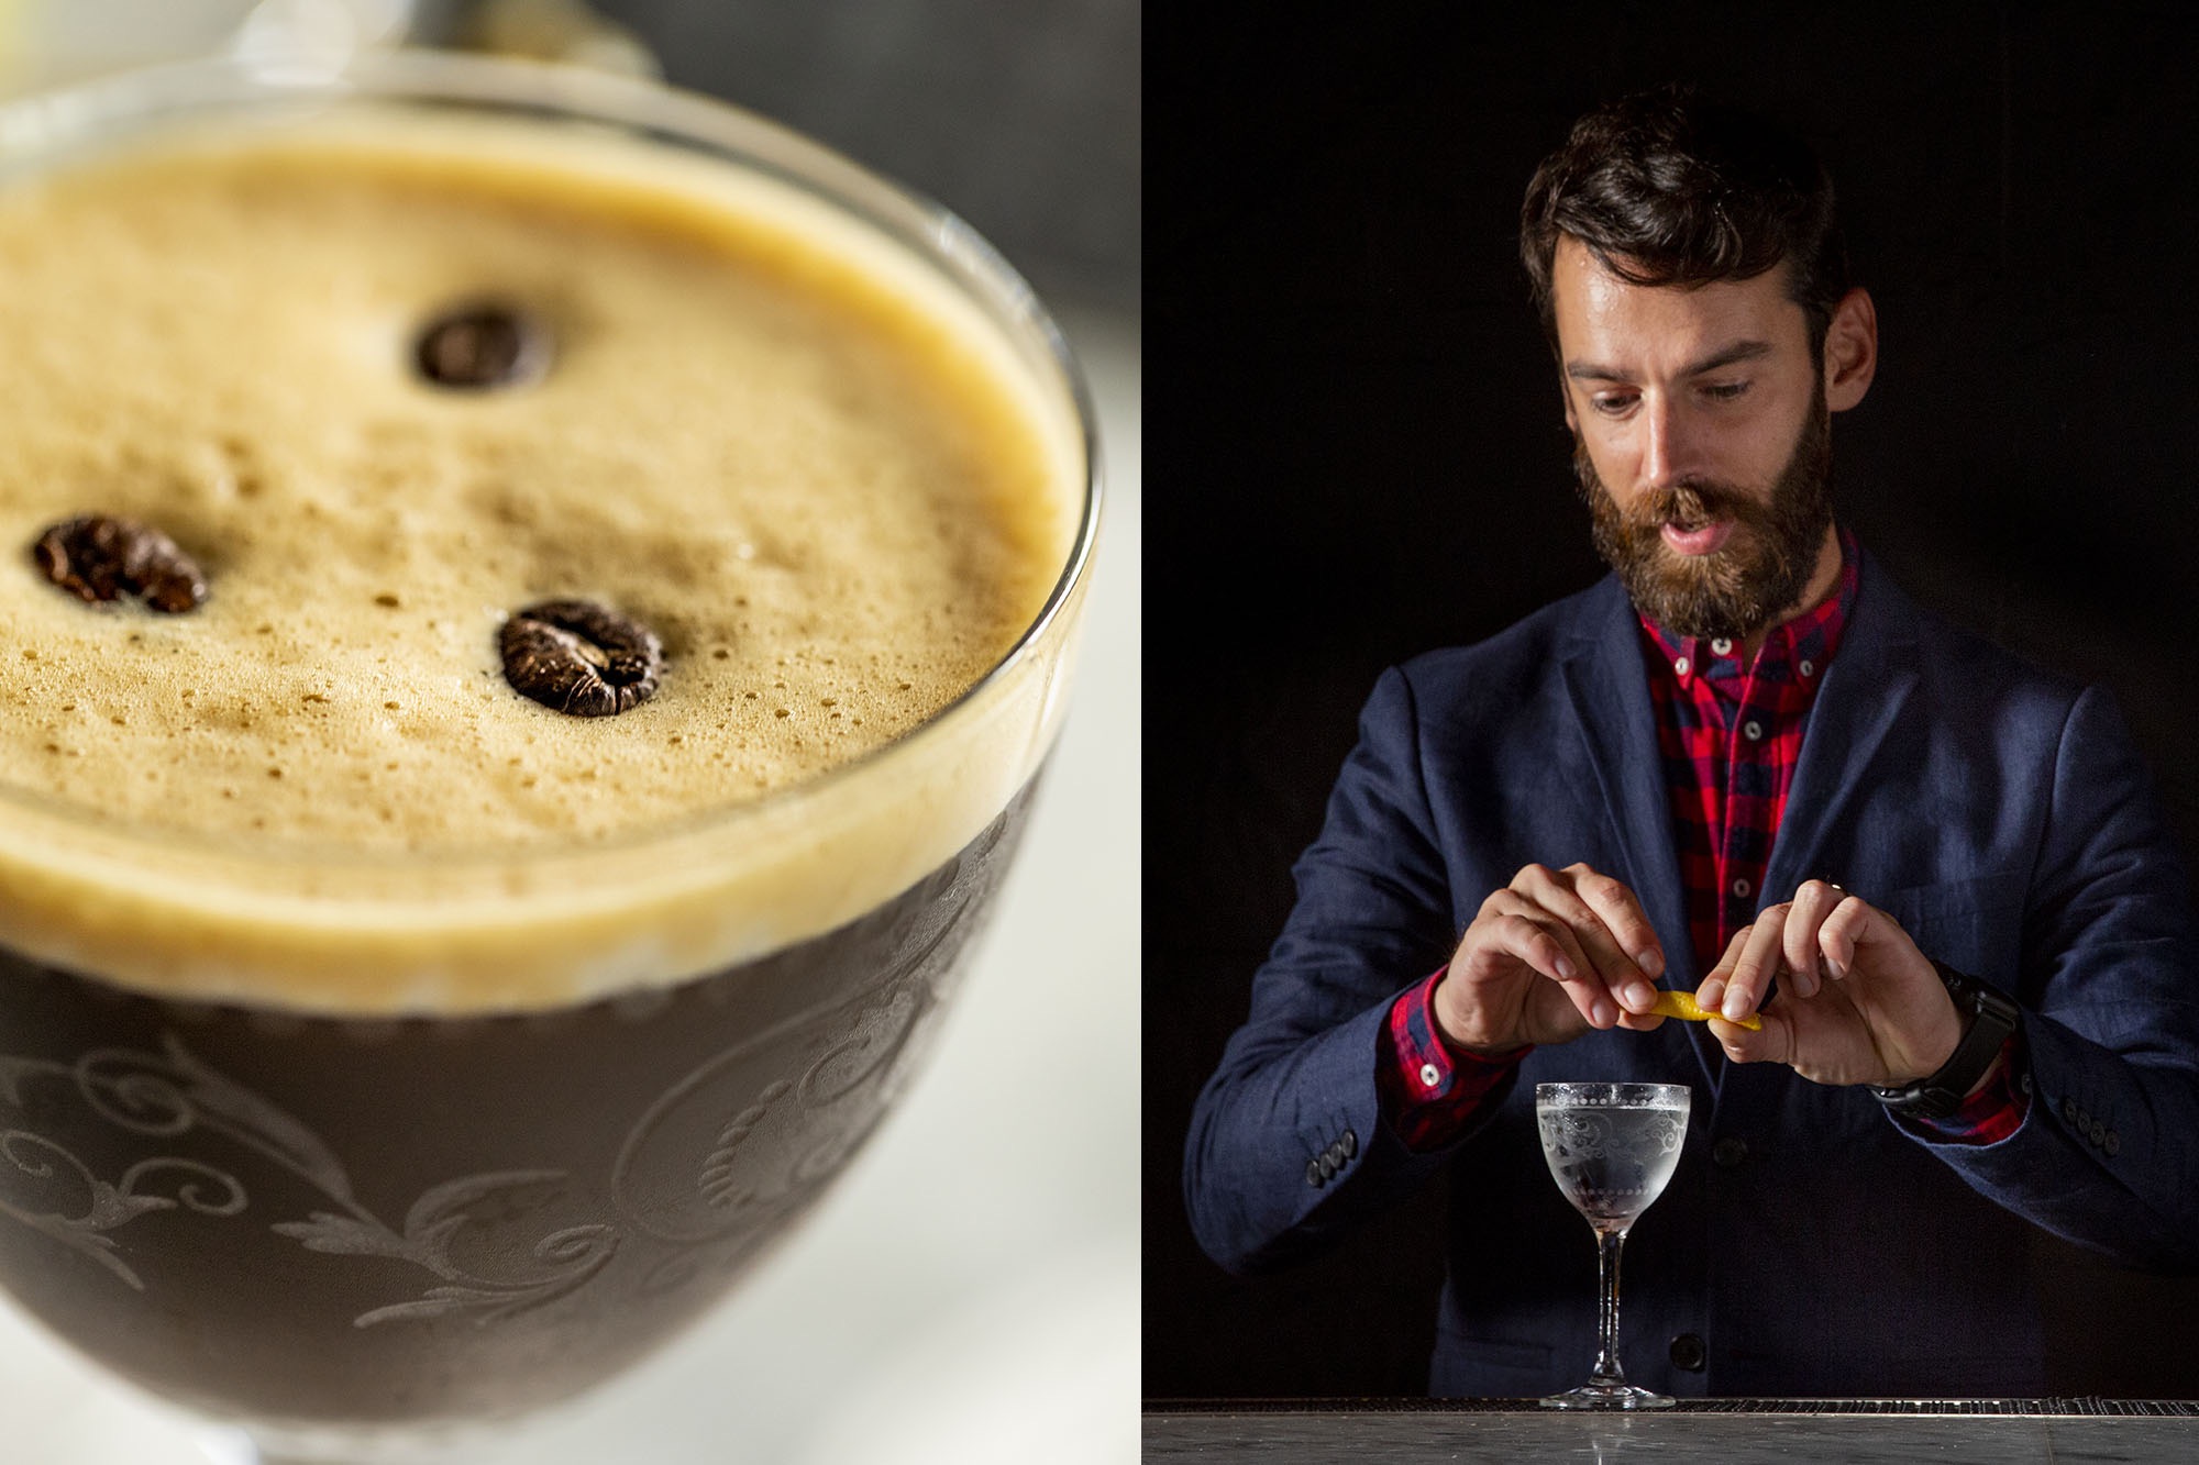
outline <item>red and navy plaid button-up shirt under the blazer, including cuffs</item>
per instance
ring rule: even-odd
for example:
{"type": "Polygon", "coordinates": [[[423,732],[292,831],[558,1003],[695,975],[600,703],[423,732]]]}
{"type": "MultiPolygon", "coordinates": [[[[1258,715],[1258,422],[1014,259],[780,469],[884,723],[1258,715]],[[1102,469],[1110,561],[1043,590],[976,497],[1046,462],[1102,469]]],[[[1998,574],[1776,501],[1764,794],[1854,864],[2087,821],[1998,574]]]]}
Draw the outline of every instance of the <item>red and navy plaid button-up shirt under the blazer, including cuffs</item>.
{"type": "MultiPolygon", "coordinates": [[[[1733,642],[1676,638],[1640,618],[1698,970],[1715,966],[1733,933],[1755,919],[1764,867],[1801,759],[1803,724],[1856,605],[1856,539],[1841,530],[1838,590],[1816,609],[1772,627],[1755,662],[1744,662],[1744,649],[1733,642]]],[[[1440,970],[1390,1005],[1377,1065],[1383,1113],[1414,1150],[1456,1139],[1528,1054],[1478,1058],[1443,1043],[1434,1014],[1438,981],[1440,970]]],[[[2025,1111],[2014,1073],[2016,1038],[2010,1036],[1992,1082],[1955,1115],[1924,1128],[1966,1144],[2005,1139],[2025,1111]]]]}

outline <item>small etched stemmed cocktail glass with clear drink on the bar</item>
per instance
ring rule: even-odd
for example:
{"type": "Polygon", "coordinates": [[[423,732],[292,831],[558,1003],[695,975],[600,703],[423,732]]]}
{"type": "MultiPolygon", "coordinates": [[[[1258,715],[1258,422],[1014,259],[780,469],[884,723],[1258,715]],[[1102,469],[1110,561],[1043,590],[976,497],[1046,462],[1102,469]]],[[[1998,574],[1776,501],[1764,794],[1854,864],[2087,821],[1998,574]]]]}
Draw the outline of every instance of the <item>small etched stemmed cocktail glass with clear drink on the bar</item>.
{"type": "Polygon", "coordinates": [[[1680,1164],[1687,1084],[1535,1084],[1535,1126],[1557,1188],[1596,1232],[1596,1368],[1588,1384],[1544,1399],[1552,1410],[1654,1410],[1667,1395],[1618,1368],[1618,1249],[1680,1164]]]}

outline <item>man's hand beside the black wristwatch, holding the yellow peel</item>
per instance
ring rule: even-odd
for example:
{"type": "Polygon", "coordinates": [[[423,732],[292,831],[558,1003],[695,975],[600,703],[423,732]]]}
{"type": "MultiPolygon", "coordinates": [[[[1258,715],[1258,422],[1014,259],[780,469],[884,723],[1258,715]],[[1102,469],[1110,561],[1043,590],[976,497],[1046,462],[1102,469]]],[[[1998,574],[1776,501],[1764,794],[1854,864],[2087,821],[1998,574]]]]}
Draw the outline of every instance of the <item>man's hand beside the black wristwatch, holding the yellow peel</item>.
{"type": "Polygon", "coordinates": [[[1759,1012],[1772,977],[1779,999],[1764,1029],[1713,1018],[1735,1062],[1783,1062],[1821,1084],[1902,1087],[1940,1071],[1962,1040],[1940,972],[1885,911],[1810,880],[1794,900],[1737,930],[1695,1001],[1739,1018],[1759,1012]]]}

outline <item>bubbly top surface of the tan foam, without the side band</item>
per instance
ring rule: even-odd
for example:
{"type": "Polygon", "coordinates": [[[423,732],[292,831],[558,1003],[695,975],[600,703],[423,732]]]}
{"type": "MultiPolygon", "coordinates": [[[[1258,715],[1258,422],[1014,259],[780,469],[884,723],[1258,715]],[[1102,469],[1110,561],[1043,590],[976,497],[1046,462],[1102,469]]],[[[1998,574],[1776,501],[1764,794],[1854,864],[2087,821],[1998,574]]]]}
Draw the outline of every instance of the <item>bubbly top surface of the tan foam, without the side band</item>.
{"type": "Polygon", "coordinates": [[[0,776],[53,787],[29,754],[79,759],[73,798],[165,827],[609,838],[888,741],[1014,642],[1051,581],[1016,510],[1045,466],[1001,451],[1009,407],[952,341],[818,288],[785,240],[574,194],[486,154],[262,143],[0,196],[0,328],[40,343],[0,363],[0,526],[112,504],[216,574],[200,625],[150,647],[0,576],[44,682],[117,708],[66,735],[37,702],[0,713],[0,776]],[[486,288],[554,317],[554,363],[424,389],[396,345],[486,288]],[[550,594],[662,629],[651,706],[559,726],[486,675],[499,616],[550,594]],[[886,658],[891,695],[840,671],[886,658]],[[147,761],[178,776],[117,776],[147,761]],[[385,774],[367,801],[361,765],[385,774]]]}

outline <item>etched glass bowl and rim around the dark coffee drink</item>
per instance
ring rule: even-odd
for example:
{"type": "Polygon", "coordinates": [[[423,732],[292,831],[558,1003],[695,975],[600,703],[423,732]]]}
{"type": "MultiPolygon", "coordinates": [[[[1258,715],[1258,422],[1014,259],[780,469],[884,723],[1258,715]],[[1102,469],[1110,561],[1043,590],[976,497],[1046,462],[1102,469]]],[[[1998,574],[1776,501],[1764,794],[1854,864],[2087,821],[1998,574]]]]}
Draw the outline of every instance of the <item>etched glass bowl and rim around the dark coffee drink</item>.
{"type": "Polygon", "coordinates": [[[950,706],[607,847],[242,847],[0,783],[0,1287],[268,1461],[416,1458],[565,1401],[816,1203],[908,1087],[1012,860],[1100,504],[1082,381],[1014,271],[717,101],[429,53],[209,62],[0,108],[0,187],[176,125],[356,108],[622,139],[697,187],[763,178],[853,220],[1007,354],[1078,508],[1045,607],[950,706]],[[172,933],[150,963],[145,930],[172,933]],[[541,1003],[543,963],[587,977],[541,1003]],[[391,970],[468,983],[420,1005],[391,970]]]}

